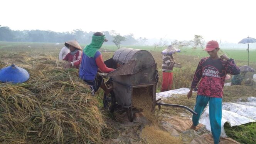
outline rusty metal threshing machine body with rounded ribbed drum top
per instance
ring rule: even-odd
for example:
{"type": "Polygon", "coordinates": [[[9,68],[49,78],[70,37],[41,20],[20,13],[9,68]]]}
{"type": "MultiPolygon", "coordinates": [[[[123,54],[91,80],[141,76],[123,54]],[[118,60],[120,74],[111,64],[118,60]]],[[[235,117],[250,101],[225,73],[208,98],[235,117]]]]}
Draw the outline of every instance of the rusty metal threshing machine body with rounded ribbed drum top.
{"type": "Polygon", "coordinates": [[[121,48],[115,51],[112,63],[120,66],[110,72],[113,81],[115,101],[123,108],[132,108],[133,94],[148,92],[150,110],[155,109],[155,89],[157,84],[157,65],[150,52],[132,48],[121,48]]]}

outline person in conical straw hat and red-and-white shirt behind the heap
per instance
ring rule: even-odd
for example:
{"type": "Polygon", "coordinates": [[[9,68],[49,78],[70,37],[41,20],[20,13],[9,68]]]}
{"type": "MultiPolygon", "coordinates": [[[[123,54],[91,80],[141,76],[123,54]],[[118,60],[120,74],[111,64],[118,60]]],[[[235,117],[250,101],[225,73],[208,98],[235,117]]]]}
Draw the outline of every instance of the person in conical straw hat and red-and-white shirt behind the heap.
{"type": "Polygon", "coordinates": [[[76,40],[70,40],[65,42],[65,46],[69,48],[70,52],[65,56],[63,60],[68,61],[64,68],[77,68],[81,64],[82,60],[82,48],[76,40]]]}

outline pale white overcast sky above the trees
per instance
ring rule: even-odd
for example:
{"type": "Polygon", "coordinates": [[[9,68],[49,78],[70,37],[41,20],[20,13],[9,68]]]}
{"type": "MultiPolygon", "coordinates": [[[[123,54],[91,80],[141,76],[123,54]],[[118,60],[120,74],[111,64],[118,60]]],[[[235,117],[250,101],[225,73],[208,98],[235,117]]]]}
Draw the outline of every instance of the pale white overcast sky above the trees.
{"type": "Polygon", "coordinates": [[[238,43],[256,38],[256,0],[2,0],[0,25],[57,32],[116,30],[135,38],[238,43]]]}

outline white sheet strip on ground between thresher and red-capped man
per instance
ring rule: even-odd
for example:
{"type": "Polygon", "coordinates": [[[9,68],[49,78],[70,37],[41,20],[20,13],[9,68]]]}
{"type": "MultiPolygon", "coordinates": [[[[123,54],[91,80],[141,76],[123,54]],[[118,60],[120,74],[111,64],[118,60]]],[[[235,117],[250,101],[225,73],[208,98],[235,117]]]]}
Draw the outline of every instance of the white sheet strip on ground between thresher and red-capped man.
{"type": "Polygon", "coordinates": [[[187,94],[189,93],[189,91],[190,91],[189,88],[180,88],[180,89],[173,89],[170,91],[164,91],[161,93],[156,93],[156,99],[171,98],[171,97],[175,97],[175,94],[187,94]]]}

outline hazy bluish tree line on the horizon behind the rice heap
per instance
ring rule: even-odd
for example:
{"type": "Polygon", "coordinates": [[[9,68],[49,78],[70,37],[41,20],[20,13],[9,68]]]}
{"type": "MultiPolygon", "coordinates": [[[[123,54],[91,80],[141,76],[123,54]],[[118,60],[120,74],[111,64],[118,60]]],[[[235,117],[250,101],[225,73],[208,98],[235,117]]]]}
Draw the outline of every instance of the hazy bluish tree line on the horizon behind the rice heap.
{"type": "MultiPolygon", "coordinates": [[[[77,40],[79,43],[91,43],[91,37],[96,31],[83,31],[75,29],[71,32],[55,32],[49,30],[11,30],[8,26],[0,25],[0,41],[18,42],[45,42],[45,43],[64,43],[68,40],[77,40]]],[[[129,35],[120,35],[115,30],[101,31],[109,40],[104,45],[116,45],[116,38],[121,38],[122,45],[145,45],[147,38],[134,38],[129,35]]]]}

